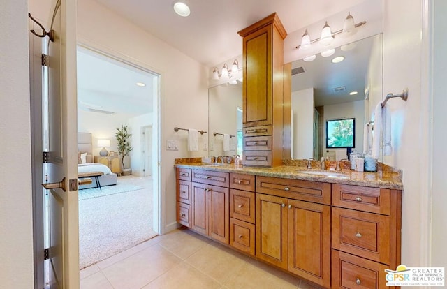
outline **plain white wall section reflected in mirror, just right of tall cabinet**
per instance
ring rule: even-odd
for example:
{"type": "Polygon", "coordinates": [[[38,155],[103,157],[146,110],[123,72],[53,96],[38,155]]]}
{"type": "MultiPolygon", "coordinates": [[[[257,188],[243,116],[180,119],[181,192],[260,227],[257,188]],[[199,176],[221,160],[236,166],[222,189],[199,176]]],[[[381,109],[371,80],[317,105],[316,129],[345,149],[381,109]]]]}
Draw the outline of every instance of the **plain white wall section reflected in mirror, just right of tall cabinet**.
{"type": "Polygon", "coordinates": [[[314,156],[314,89],[292,91],[292,141],[295,159],[314,156]]]}

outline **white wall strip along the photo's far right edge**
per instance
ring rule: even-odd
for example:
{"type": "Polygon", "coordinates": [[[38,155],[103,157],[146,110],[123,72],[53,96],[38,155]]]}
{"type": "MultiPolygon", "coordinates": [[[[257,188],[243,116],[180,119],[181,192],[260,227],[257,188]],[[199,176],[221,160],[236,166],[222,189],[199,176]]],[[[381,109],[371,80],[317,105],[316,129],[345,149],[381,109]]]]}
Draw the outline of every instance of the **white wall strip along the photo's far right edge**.
{"type": "Polygon", "coordinates": [[[433,152],[432,152],[432,267],[447,267],[447,193],[445,156],[447,134],[447,1],[432,1],[434,13],[434,67],[433,67],[433,152]]]}

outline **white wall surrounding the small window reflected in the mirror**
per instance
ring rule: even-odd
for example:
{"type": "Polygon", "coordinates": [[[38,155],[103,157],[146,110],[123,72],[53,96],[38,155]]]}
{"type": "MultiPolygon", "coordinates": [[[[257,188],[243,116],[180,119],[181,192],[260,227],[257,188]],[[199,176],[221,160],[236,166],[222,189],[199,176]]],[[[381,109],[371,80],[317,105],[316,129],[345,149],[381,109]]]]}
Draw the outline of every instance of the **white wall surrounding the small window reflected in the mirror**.
{"type": "MultiPolygon", "coordinates": [[[[325,105],[323,115],[323,152],[326,151],[326,120],[327,119],[343,119],[343,118],[355,118],[356,119],[356,149],[357,151],[363,151],[363,128],[365,126],[365,101],[351,101],[349,103],[340,103],[337,105],[325,105]]],[[[343,150],[346,149],[333,149],[343,150]]],[[[346,158],[346,156],[344,156],[346,158]]]]}

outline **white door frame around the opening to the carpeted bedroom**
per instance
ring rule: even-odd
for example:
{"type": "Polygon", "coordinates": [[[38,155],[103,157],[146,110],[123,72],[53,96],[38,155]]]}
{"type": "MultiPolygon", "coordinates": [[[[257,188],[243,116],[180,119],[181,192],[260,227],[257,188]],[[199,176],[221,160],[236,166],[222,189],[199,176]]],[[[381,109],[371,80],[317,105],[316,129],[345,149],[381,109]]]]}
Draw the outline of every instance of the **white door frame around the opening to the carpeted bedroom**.
{"type": "Polygon", "coordinates": [[[165,208],[166,204],[161,198],[161,83],[162,83],[162,75],[161,71],[156,70],[155,68],[148,66],[136,59],[133,59],[129,56],[116,52],[115,50],[110,50],[106,47],[98,45],[97,43],[91,43],[91,41],[82,39],[81,36],[78,37],[78,47],[82,47],[83,49],[90,50],[92,52],[102,54],[105,57],[110,59],[114,59],[116,61],[120,61],[123,64],[127,64],[129,66],[133,66],[134,68],[138,68],[141,71],[145,71],[147,73],[151,73],[155,75],[154,77],[154,98],[152,103],[153,108],[153,117],[154,122],[152,123],[152,138],[156,138],[156,141],[152,141],[153,147],[152,151],[156,151],[156,154],[152,154],[152,156],[156,156],[152,159],[152,179],[153,181],[153,202],[152,202],[152,230],[159,233],[160,235],[163,233],[163,223],[165,216],[165,208]],[[156,90],[155,90],[156,89],[156,90]]]}

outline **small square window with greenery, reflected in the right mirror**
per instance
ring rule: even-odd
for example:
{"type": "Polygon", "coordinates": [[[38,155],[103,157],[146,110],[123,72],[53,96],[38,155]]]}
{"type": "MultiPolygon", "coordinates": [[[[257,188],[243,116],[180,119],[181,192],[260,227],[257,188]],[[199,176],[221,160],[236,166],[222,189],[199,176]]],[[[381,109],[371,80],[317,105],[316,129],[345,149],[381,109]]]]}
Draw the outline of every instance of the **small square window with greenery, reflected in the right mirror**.
{"type": "Polygon", "coordinates": [[[326,148],[356,147],[356,119],[326,121],[326,148]]]}

